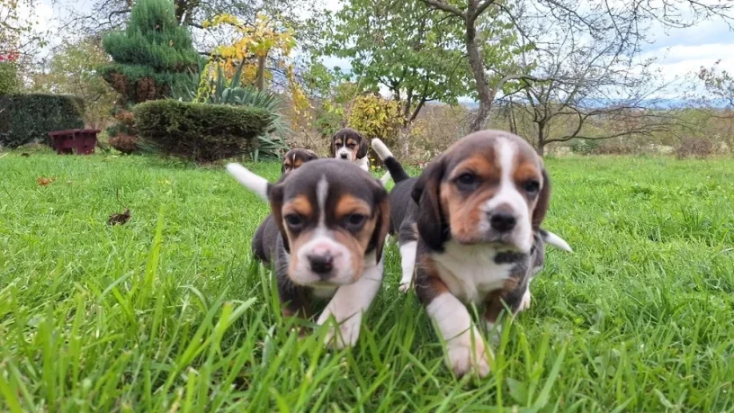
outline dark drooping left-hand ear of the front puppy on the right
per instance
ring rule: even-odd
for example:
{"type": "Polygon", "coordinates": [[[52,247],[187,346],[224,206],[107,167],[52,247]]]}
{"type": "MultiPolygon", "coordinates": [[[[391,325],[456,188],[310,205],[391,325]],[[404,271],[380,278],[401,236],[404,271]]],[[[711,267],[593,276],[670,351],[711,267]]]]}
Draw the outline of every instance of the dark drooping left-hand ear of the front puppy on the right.
{"type": "Polygon", "coordinates": [[[418,177],[410,195],[420,212],[416,219],[418,234],[425,244],[436,251],[443,251],[443,243],[449,238],[449,226],[441,211],[440,188],[443,179],[443,159],[436,158],[418,177]]]}

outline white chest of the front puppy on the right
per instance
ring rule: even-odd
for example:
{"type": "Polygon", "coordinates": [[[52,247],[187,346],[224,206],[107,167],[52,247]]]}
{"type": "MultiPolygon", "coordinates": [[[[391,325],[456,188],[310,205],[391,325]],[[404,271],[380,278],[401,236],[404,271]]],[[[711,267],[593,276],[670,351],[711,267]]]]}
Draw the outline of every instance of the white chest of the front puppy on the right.
{"type": "Polygon", "coordinates": [[[443,254],[433,256],[439,276],[449,291],[465,303],[481,303],[489,292],[504,287],[512,264],[497,264],[497,250],[487,246],[445,244],[443,254]]]}

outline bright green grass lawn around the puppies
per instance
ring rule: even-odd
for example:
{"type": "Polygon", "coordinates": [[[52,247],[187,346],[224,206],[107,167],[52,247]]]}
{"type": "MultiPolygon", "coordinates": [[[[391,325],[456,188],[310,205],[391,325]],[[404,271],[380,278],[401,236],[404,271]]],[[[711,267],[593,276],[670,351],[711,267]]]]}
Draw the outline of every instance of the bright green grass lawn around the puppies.
{"type": "Polygon", "coordinates": [[[1,157],[0,410],[734,411],[734,161],[547,164],[545,227],[576,252],[550,249],[489,377],[456,381],[394,245],[330,352],[280,317],[250,257],[266,206],[222,169],[1,157]]]}

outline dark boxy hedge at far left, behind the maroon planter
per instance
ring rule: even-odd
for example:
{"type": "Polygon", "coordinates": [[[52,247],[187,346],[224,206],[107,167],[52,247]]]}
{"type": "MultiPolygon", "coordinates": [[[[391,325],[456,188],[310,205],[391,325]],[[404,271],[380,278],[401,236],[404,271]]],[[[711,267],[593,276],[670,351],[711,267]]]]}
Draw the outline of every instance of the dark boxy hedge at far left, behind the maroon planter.
{"type": "Polygon", "coordinates": [[[84,128],[84,101],[62,94],[0,95],[0,145],[48,141],[49,132],[84,128]]]}

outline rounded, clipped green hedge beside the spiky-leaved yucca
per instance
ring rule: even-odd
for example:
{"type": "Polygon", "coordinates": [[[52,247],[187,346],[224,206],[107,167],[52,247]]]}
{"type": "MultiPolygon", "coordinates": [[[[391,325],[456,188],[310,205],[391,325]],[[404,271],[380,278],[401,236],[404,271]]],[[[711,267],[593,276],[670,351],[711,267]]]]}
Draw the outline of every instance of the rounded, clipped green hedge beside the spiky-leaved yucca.
{"type": "Polygon", "coordinates": [[[158,150],[197,162],[243,155],[271,123],[252,106],[159,100],[133,108],[138,136],[158,150]]]}

